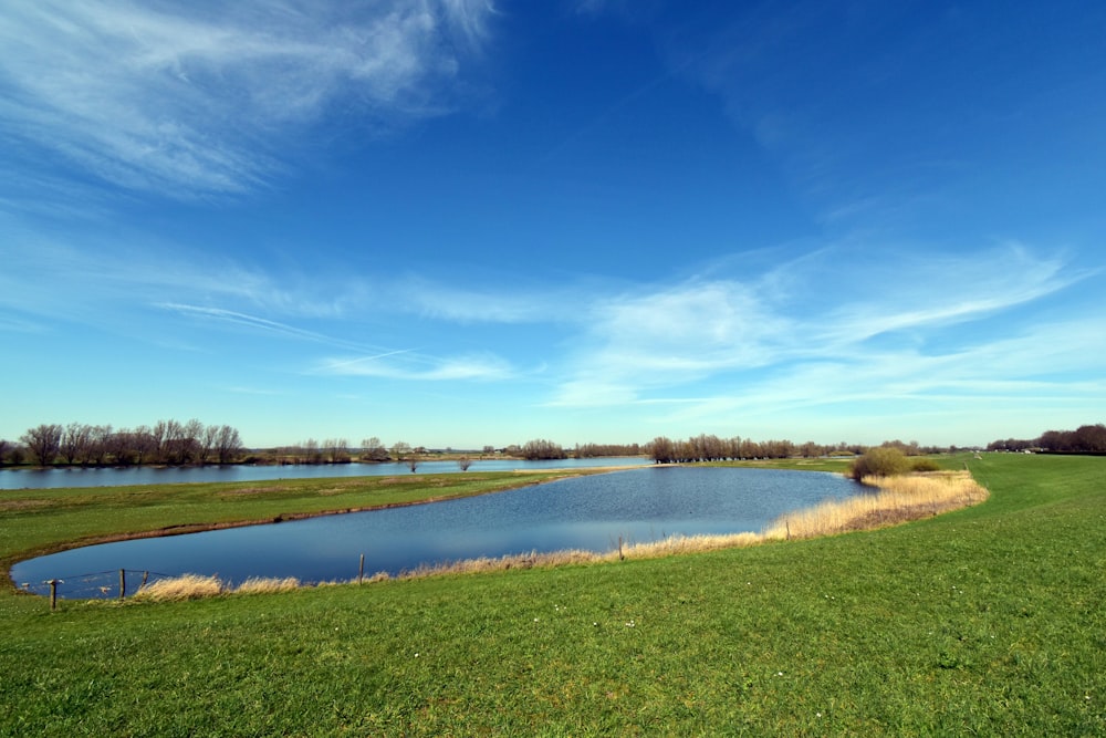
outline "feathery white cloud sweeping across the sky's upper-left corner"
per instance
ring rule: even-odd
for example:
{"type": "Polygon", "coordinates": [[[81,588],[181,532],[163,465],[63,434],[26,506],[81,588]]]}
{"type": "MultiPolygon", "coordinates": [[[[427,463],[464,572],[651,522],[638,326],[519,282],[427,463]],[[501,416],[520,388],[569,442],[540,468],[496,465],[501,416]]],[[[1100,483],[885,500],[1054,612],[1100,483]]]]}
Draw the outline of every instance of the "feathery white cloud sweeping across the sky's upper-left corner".
{"type": "Polygon", "coordinates": [[[0,15],[0,125],[126,188],[241,193],[281,169],[290,126],[338,96],[376,126],[441,113],[441,83],[491,12],[466,0],[19,3],[0,15]]]}

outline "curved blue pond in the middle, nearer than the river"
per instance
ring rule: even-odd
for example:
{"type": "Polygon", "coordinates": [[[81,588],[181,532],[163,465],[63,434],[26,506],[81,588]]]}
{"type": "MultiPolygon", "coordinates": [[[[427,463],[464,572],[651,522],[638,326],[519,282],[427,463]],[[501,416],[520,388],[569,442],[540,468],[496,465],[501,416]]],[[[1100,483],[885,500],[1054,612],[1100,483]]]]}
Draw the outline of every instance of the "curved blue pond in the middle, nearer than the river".
{"type": "Polygon", "coordinates": [[[790,510],[864,490],[831,474],[647,467],[431,505],[106,543],[32,559],[11,574],[17,586],[35,592],[62,579],[63,597],[117,596],[119,569],[136,572],[128,579],[132,591],[142,571],[211,574],[231,583],[251,576],[351,580],[361,554],[368,576],[529,551],[611,551],[619,537],[645,542],[759,531],[790,510]]]}

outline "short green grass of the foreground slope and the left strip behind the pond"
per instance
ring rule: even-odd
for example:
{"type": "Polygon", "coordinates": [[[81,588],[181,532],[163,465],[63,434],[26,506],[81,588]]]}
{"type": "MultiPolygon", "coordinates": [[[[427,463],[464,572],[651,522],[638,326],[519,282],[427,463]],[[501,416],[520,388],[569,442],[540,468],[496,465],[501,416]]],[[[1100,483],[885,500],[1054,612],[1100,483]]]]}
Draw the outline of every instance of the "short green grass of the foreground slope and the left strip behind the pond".
{"type": "MultiPolygon", "coordinates": [[[[0,735],[1106,735],[1106,459],[966,460],[985,503],[825,539],[55,613],[9,591],[0,735]]],[[[0,557],[326,503],[301,492],[0,492],[0,557]]]]}

